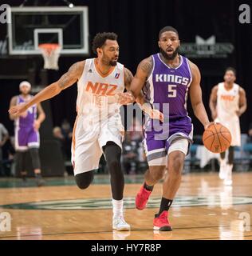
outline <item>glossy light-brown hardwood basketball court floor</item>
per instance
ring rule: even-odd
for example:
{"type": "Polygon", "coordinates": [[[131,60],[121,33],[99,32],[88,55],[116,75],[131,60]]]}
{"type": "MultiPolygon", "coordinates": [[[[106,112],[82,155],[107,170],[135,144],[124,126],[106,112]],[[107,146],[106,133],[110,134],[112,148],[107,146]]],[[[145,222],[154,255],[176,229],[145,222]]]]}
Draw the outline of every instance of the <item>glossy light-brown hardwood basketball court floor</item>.
{"type": "Polygon", "coordinates": [[[0,239],[252,239],[252,173],[233,176],[233,187],[225,187],[216,173],[184,175],[170,210],[172,232],[152,230],[161,184],[146,210],[134,208],[142,176],[126,178],[133,182],[125,186],[130,232],[112,231],[108,176],[96,177],[88,190],[79,190],[73,178],[47,179],[41,188],[0,179],[0,214],[12,218],[11,231],[0,231],[0,239]]]}

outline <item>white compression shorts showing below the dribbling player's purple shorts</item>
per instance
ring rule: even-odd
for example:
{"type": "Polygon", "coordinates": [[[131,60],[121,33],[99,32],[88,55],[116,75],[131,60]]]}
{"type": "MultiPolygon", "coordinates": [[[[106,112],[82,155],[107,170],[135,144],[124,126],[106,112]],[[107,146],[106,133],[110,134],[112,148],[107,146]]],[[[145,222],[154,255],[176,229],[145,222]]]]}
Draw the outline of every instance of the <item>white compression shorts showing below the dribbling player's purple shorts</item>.
{"type": "MultiPolygon", "coordinates": [[[[187,138],[179,138],[174,142],[171,142],[171,146],[169,146],[167,155],[171,154],[171,152],[174,152],[174,151],[181,151],[183,154],[187,155],[188,148],[189,148],[189,140],[187,138]]],[[[148,161],[148,165],[149,166],[166,166],[167,155],[163,156],[162,158],[156,158],[148,161]]]]}

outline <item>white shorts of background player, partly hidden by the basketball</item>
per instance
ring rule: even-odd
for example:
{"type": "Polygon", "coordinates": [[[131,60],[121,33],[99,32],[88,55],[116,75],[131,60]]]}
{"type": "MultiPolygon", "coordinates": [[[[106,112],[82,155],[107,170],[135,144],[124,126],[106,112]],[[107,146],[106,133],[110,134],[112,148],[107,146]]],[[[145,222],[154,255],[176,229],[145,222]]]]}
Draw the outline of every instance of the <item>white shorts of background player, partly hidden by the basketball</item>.
{"type": "Polygon", "coordinates": [[[230,134],[232,136],[230,146],[241,146],[241,128],[239,118],[235,117],[231,120],[216,118],[215,122],[220,122],[230,130],[230,134]]]}

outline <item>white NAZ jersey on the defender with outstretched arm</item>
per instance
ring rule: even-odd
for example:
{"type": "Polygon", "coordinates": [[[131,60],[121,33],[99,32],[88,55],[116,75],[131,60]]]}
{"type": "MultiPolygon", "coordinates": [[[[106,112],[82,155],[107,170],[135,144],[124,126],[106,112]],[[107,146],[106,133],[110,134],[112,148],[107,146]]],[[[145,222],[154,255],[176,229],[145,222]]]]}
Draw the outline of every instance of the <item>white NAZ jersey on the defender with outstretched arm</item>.
{"type": "Polygon", "coordinates": [[[89,117],[108,118],[118,114],[120,105],[107,104],[108,97],[124,92],[124,65],[117,62],[108,74],[101,74],[96,58],[85,60],[85,68],[78,81],[77,113],[89,117]],[[103,96],[103,97],[102,97],[103,96]],[[98,105],[101,100],[102,106],[98,105]]]}

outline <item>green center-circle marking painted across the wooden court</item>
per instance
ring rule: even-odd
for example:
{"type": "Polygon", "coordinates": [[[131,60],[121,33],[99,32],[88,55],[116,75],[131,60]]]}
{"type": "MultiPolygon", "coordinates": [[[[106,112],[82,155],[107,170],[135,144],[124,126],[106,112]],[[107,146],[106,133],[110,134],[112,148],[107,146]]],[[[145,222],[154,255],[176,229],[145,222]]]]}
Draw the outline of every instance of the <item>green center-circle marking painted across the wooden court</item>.
{"type": "MultiPolygon", "coordinates": [[[[89,198],[89,199],[70,199],[70,200],[50,200],[42,202],[26,202],[0,206],[3,209],[21,209],[21,210],[95,210],[112,209],[111,198],[89,198]]],[[[158,208],[160,197],[152,197],[148,201],[148,208],[158,208]]],[[[188,206],[232,206],[252,204],[252,197],[234,196],[226,200],[219,195],[209,197],[180,196],[175,198],[174,207],[188,206]]],[[[124,198],[124,207],[128,209],[135,208],[135,198],[124,198]]]]}

